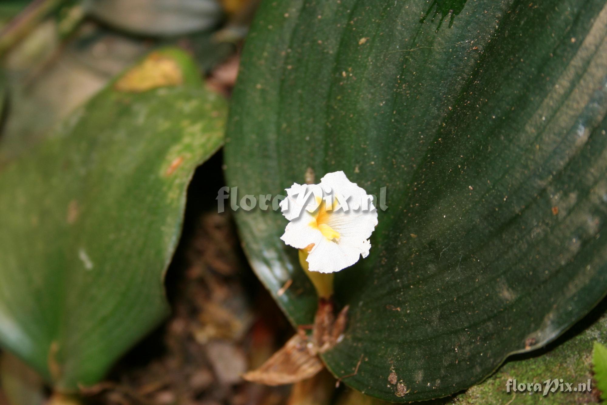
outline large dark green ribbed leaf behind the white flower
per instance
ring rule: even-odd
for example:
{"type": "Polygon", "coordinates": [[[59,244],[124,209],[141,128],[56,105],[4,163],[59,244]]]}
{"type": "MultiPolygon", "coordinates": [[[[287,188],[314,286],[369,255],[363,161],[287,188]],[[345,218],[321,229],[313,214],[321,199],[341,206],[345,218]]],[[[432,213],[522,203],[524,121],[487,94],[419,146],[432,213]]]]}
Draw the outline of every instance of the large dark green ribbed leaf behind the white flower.
{"type": "MultiPolygon", "coordinates": [[[[456,392],[605,295],[606,33],[597,0],[262,4],[229,185],[283,193],[311,167],[387,187],[370,256],[336,276],[350,319],[324,360],[347,376],[362,358],[344,383],[392,401],[456,392]]],[[[236,218],[260,279],[276,296],[293,278],[277,300],[310,323],[280,212],[236,218]]]]}

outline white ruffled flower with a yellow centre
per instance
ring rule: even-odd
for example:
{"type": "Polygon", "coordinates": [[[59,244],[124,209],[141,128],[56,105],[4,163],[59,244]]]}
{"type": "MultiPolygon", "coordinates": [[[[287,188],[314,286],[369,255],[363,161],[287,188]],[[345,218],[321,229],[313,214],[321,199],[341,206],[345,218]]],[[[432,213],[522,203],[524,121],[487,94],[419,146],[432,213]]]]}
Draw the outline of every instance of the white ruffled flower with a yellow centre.
{"type": "Polygon", "coordinates": [[[294,183],[286,191],[280,207],[290,222],[280,239],[309,252],[310,271],[340,271],[368,256],[378,213],[371,196],[343,171],[327,173],[320,184],[294,183]]]}

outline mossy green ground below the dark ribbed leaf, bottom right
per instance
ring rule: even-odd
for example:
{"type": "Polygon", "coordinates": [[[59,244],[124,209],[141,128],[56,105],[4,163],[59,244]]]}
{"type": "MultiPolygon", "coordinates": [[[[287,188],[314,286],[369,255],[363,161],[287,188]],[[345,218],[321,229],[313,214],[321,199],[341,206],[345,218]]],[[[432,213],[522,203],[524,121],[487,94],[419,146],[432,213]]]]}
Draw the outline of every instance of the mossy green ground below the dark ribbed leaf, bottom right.
{"type": "MultiPolygon", "coordinates": [[[[571,405],[595,403],[598,398],[597,389],[600,389],[597,374],[592,370],[593,357],[597,356],[597,351],[592,351],[592,345],[595,347],[601,345],[597,342],[604,342],[607,336],[607,314],[605,313],[605,300],[603,305],[595,308],[589,316],[581,320],[573,328],[560,336],[557,341],[552,342],[548,347],[541,350],[535,350],[532,353],[512,356],[506,364],[493,373],[483,383],[470,387],[465,392],[458,393],[447,398],[441,398],[435,401],[427,401],[424,405],[504,405],[509,401],[517,405],[536,405],[545,403],[550,405],[571,405]],[[597,311],[599,310],[599,311],[597,311]],[[597,319],[597,314],[603,313],[597,319]],[[592,321],[594,320],[594,323],[592,321]],[[591,324],[591,325],[589,325],[591,324]],[[583,330],[586,328],[585,330],[583,330]],[[583,330],[583,331],[582,331],[583,330]],[[546,385],[544,382],[551,378],[549,389],[554,388],[552,380],[563,379],[564,382],[572,384],[572,392],[565,390],[561,392],[560,387],[555,391],[547,391],[544,395],[546,385]],[[591,380],[588,391],[588,380],[591,380]],[[540,392],[537,387],[535,391],[517,392],[511,388],[507,392],[508,381],[514,380],[518,384],[541,384],[540,392]],[[584,384],[583,386],[580,384],[584,384]],[[586,388],[586,389],[585,389],[586,388]]],[[[559,381],[560,382],[560,381],[559,381]]],[[[339,400],[336,405],[386,405],[385,401],[362,395],[354,390],[344,390],[339,394],[339,400]]]]}

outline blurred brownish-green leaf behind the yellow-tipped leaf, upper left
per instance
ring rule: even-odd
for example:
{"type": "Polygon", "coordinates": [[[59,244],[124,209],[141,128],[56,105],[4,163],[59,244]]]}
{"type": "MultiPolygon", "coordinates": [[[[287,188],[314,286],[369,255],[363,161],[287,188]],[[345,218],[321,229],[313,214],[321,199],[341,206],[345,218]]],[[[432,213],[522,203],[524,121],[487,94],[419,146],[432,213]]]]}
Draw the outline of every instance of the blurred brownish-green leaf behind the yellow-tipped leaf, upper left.
{"type": "Polygon", "coordinates": [[[12,49],[7,61],[10,114],[0,134],[0,166],[44,139],[75,108],[154,48],[149,41],[100,28],[82,30],[62,45],[56,24],[41,24],[12,49]]]}

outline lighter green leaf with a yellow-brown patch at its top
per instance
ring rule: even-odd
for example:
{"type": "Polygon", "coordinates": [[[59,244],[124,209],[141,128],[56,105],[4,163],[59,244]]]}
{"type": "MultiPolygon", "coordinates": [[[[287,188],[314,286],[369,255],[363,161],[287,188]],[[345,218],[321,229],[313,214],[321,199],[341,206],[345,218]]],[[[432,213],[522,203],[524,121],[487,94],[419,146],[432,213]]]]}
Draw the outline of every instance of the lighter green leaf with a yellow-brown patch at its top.
{"type": "Polygon", "coordinates": [[[155,52],[0,169],[0,343],[59,389],[168,313],[186,187],[225,111],[189,58],[155,52]]]}

